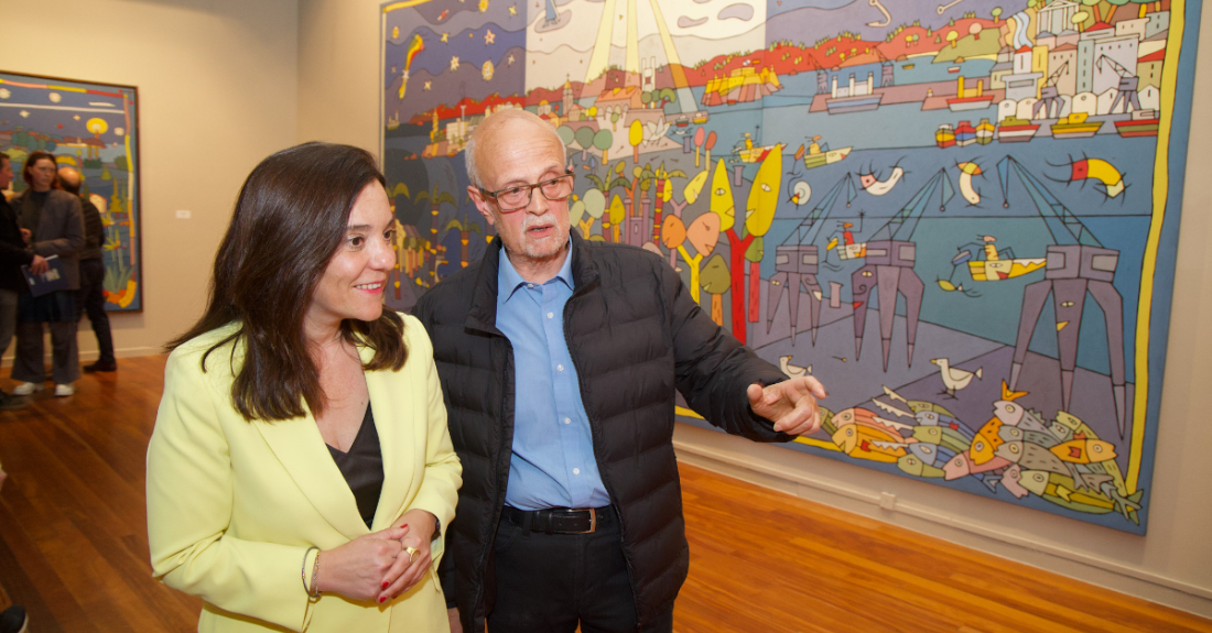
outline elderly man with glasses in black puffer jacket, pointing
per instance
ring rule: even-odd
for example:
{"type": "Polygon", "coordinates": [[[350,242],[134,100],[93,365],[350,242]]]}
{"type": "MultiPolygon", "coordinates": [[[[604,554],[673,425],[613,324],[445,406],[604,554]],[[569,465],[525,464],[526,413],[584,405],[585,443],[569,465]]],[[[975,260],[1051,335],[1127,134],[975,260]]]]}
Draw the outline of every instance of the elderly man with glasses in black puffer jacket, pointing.
{"type": "Polygon", "coordinates": [[[675,391],[781,442],[819,426],[824,387],[730,336],[662,258],[570,236],[573,175],[545,121],[493,114],[465,156],[498,238],[416,307],[463,461],[441,569],[452,628],[670,631],[690,560],[675,391]]]}

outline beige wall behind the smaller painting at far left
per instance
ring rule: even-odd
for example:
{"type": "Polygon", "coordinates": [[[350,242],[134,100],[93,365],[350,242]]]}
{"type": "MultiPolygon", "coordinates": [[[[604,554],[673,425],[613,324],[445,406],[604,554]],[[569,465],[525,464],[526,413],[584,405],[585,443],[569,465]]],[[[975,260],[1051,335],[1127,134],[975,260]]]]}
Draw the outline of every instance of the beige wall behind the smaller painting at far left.
{"type": "Polygon", "coordinates": [[[139,88],[144,310],[110,312],[119,356],[201,315],[240,184],[295,144],[297,41],[296,0],[0,0],[0,70],[139,88]]]}

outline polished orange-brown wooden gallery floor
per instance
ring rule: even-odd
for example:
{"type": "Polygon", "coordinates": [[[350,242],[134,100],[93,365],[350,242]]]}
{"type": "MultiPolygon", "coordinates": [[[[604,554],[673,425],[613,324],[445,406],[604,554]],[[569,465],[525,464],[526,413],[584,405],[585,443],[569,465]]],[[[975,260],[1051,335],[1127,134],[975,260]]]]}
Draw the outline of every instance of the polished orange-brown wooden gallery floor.
{"type": "MultiPolygon", "coordinates": [[[[148,565],[144,450],[164,357],[0,413],[0,586],[33,633],[195,631],[148,565]]],[[[8,391],[12,384],[0,380],[8,391]]],[[[1212,621],[682,466],[697,632],[1212,632],[1212,621]]],[[[0,606],[4,604],[0,595],[0,606]]],[[[542,632],[537,632],[542,633],[542,632]]]]}

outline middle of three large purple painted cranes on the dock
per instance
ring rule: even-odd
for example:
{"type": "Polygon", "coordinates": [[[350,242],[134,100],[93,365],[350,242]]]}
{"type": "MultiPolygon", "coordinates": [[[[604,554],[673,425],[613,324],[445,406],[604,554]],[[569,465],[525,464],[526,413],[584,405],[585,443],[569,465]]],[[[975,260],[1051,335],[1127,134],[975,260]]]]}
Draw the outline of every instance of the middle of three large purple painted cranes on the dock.
{"type": "Polygon", "coordinates": [[[936,194],[941,197],[939,211],[945,211],[947,203],[955,196],[955,189],[951,186],[951,179],[947,175],[945,169],[939,169],[901,211],[892,215],[863,244],[863,258],[867,264],[851,275],[851,300],[854,303],[854,358],[859,358],[863,350],[863,330],[870,307],[870,294],[877,287],[880,345],[884,352],[885,372],[888,370],[888,352],[892,349],[892,323],[897,313],[897,294],[905,299],[907,352],[908,363],[913,364],[917,318],[921,316],[921,298],[926,287],[922,284],[921,277],[913,270],[917,261],[917,244],[911,240],[914,230],[917,229],[917,221],[936,194]]]}

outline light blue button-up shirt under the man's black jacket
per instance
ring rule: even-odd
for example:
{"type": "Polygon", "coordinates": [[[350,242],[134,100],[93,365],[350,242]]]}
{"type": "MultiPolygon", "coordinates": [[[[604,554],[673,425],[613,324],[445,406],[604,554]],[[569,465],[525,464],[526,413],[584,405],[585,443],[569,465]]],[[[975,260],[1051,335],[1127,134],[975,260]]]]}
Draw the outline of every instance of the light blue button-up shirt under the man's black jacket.
{"type": "Polygon", "coordinates": [[[513,344],[514,447],[505,503],[519,510],[602,507],[610,495],[594,459],[589,416],[564,338],[572,252],[545,283],[531,283],[501,249],[497,329],[513,344]]]}

